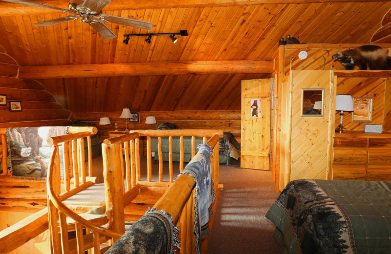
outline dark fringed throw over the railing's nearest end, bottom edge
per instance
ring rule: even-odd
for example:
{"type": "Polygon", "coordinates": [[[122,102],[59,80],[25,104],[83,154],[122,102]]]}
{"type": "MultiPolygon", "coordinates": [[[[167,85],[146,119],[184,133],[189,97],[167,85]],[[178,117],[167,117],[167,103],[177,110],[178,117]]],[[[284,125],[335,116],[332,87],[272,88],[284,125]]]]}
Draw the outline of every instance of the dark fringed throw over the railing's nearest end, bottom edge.
{"type": "Polygon", "coordinates": [[[174,254],[174,247],[179,247],[177,234],[169,213],[148,209],[106,254],[174,254]]]}

